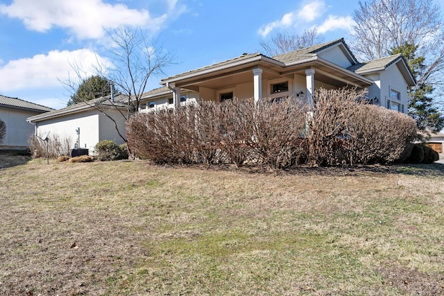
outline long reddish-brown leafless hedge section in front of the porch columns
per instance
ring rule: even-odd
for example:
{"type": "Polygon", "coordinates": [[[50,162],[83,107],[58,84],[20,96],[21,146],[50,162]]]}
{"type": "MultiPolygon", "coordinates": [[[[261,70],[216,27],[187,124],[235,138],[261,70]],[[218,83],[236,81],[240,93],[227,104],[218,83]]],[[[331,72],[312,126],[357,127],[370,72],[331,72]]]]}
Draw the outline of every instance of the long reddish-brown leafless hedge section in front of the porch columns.
{"type": "Polygon", "coordinates": [[[128,145],[138,157],[157,164],[261,162],[271,168],[297,164],[305,155],[299,138],[305,107],[292,98],[279,102],[204,101],[173,112],[134,116],[128,145]],[[253,156],[254,155],[254,156],[253,156]]]}

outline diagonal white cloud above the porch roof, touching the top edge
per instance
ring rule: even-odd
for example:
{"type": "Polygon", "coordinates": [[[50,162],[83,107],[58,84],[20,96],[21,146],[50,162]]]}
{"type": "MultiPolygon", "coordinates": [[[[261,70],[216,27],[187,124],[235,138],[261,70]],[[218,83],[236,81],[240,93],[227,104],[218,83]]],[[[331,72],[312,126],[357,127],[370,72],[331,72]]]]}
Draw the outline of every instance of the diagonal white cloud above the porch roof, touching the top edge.
{"type": "Polygon", "coordinates": [[[275,29],[289,28],[301,22],[314,21],[323,14],[325,8],[324,0],[311,1],[302,6],[300,10],[287,12],[281,19],[263,25],[259,28],[258,33],[262,35],[262,37],[266,37],[266,35],[275,29]]]}

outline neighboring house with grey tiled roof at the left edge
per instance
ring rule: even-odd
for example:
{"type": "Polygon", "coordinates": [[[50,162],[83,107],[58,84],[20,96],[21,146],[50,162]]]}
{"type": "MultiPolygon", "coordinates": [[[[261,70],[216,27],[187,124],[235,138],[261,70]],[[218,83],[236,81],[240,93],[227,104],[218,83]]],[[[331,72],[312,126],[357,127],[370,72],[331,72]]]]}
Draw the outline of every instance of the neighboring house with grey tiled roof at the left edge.
{"type": "Polygon", "coordinates": [[[34,132],[33,125],[26,122],[29,116],[52,111],[52,108],[27,102],[19,98],[0,95],[0,119],[6,124],[6,136],[0,150],[23,150],[28,148],[28,138],[34,132]]]}

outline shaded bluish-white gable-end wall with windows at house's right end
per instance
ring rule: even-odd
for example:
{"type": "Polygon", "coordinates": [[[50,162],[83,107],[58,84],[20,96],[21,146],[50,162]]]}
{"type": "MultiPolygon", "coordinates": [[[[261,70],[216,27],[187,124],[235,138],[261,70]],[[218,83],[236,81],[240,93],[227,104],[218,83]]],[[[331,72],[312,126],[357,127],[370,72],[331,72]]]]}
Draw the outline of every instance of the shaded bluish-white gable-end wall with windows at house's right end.
{"type": "Polygon", "coordinates": [[[407,82],[404,80],[402,73],[395,64],[386,68],[380,73],[381,99],[382,107],[387,107],[387,101],[395,101],[404,106],[404,113],[407,114],[407,82]],[[399,101],[390,98],[390,90],[393,89],[400,93],[401,99],[399,101]]]}

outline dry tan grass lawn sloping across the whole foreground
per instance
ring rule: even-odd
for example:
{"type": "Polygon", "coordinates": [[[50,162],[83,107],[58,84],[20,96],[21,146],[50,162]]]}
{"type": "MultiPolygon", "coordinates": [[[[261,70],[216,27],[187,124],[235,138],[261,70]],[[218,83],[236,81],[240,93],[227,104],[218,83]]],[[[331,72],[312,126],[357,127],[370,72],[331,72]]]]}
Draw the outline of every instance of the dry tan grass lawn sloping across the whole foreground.
{"type": "Polygon", "coordinates": [[[0,295],[444,294],[443,164],[17,164],[0,295]]]}

